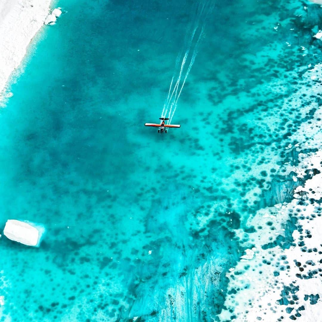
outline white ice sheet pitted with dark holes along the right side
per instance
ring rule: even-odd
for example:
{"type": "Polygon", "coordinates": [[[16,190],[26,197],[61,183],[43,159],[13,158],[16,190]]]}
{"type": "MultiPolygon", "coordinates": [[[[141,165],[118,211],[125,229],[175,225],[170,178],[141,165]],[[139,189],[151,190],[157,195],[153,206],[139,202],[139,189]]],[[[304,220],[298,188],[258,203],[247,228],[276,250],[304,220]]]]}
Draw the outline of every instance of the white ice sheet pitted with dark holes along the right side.
{"type": "MultiPolygon", "coordinates": [[[[316,65],[312,72],[321,78],[322,66],[316,65]]],[[[311,79],[310,71],[304,78],[311,79]]],[[[319,83],[312,84],[310,92],[317,95],[319,83]]],[[[220,321],[232,320],[232,316],[234,321],[245,322],[282,321],[286,318],[300,318],[306,322],[320,320],[321,113],[322,107],[319,106],[314,119],[304,122],[292,136],[293,142],[303,142],[297,144],[299,150],[301,145],[316,150],[299,153],[298,165],[286,166],[290,173],[295,173],[293,181],[302,182],[294,189],[294,199],[260,209],[248,219],[248,226],[256,227],[257,231],[249,234],[249,242],[245,245],[255,246],[256,256],[247,260],[247,266],[241,260],[227,272],[229,290],[226,309],[219,315],[220,321]]],[[[250,249],[245,252],[245,257],[251,255],[250,249]]]]}

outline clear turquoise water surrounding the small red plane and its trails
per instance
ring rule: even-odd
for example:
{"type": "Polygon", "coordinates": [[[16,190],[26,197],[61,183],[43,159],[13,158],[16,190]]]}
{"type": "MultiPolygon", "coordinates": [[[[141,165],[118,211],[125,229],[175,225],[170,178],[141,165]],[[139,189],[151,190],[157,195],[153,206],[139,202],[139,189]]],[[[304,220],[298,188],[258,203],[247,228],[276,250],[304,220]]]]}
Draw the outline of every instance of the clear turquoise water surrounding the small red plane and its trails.
{"type": "Polygon", "coordinates": [[[281,106],[320,46],[316,7],[297,18],[300,4],[213,2],[181,128],[158,135],[143,125],[160,116],[200,6],[57,3],[1,110],[1,227],[46,227],[40,248],[1,239],[3,321],[219,321],[226,272],[257,229],[246,219],[298,185],[282,147],[314,99],[281,106]]]}

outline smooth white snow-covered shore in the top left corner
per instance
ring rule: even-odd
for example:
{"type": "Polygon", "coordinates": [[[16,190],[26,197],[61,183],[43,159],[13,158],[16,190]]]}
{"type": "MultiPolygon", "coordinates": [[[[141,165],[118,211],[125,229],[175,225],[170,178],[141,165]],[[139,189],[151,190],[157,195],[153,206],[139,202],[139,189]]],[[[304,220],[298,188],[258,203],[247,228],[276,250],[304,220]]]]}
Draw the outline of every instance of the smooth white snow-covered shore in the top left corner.
{"type": "Polygon", "coordinates": [[[33,36],[43,25],[50,2],[51,0],[0,2],[0,93],[12,71],[20,65],[33,36]]]}

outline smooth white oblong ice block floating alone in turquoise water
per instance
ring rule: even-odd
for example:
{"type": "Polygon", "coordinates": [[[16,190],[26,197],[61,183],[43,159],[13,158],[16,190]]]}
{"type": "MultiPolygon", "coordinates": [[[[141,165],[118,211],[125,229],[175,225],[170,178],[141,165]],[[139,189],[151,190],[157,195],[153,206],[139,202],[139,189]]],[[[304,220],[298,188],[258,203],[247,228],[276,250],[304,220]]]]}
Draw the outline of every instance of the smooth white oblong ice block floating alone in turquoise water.
{"type": "Polygon", "coordinates": [[[27,246],[37,246],[42,231],[29,223],[20,220],[9,219],[5,223],[4,235],[15,242],[20,242],[27,246]]]}

